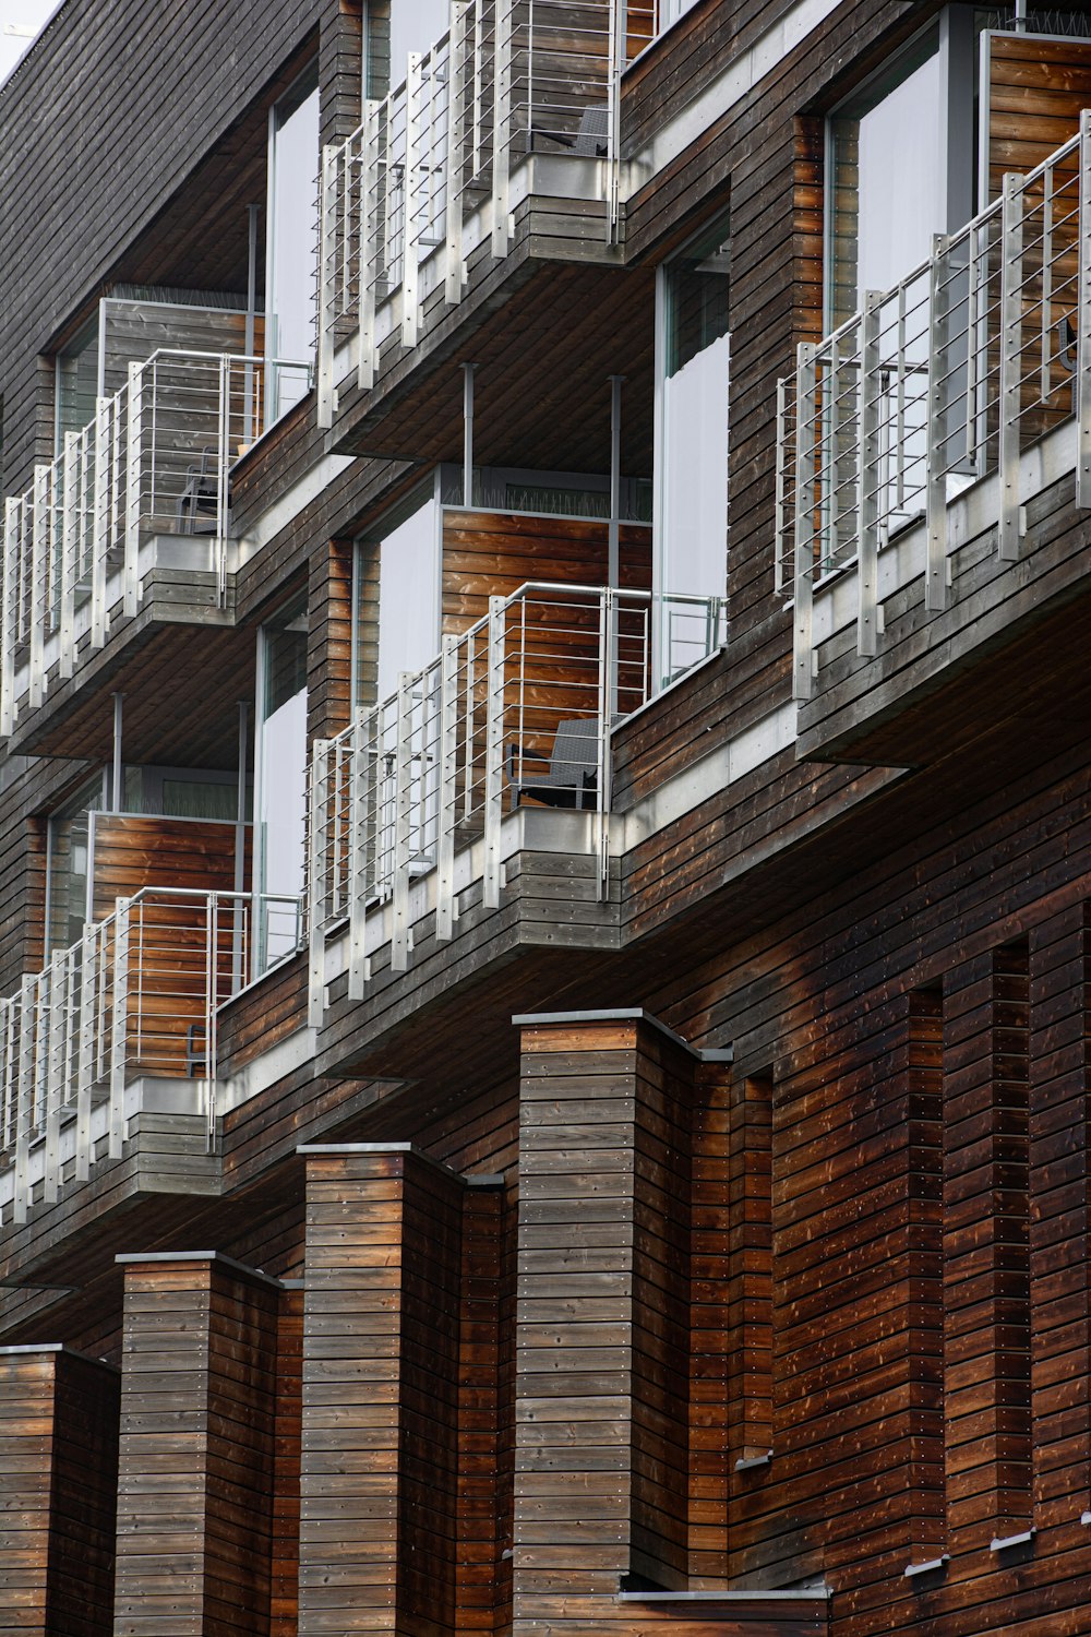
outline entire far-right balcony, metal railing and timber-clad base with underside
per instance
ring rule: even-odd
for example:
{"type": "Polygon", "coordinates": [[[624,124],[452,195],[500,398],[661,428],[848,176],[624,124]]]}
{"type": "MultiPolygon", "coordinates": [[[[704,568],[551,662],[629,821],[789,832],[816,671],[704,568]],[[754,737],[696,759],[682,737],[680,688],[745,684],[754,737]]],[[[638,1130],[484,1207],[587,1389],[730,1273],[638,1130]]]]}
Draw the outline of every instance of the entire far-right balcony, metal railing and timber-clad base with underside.
{"type": "Polygon", "coordinates": [[[777,586],[800,751],[929,761],[973,732],[975,699],[978,720],[1024,717],[1065,742],[1086,697],[1088,507],[1084,113],[780,383],[777,586]]]}

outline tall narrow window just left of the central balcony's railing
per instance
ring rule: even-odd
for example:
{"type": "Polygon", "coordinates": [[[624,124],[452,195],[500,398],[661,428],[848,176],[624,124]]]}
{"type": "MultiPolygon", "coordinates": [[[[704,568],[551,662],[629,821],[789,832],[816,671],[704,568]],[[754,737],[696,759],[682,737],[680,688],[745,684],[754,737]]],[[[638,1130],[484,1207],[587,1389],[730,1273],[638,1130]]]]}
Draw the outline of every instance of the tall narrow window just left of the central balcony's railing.
{"type": "Polygon", "coordinates": [[[303,892],[308,778],[308,616],[294,602],[258,630],[255,976],[296,948],[285,900],[303,892]]]}

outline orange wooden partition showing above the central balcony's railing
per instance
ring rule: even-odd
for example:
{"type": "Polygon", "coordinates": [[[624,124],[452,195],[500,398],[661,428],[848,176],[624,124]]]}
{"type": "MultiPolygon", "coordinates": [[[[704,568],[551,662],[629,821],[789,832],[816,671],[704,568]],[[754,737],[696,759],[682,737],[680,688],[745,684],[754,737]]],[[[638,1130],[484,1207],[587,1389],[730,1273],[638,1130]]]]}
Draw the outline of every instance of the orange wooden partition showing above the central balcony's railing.
{"type": "MultiPolygon", "coordinates": [[[[651,529],[625,524],[622,584],[651,589],[651,529]]],[[[463,632],[489,612],[491,596],[510,596],[528,579],[607,583],[607,524],[579,517],[443,511],[442,619],[463,632]]]]}

